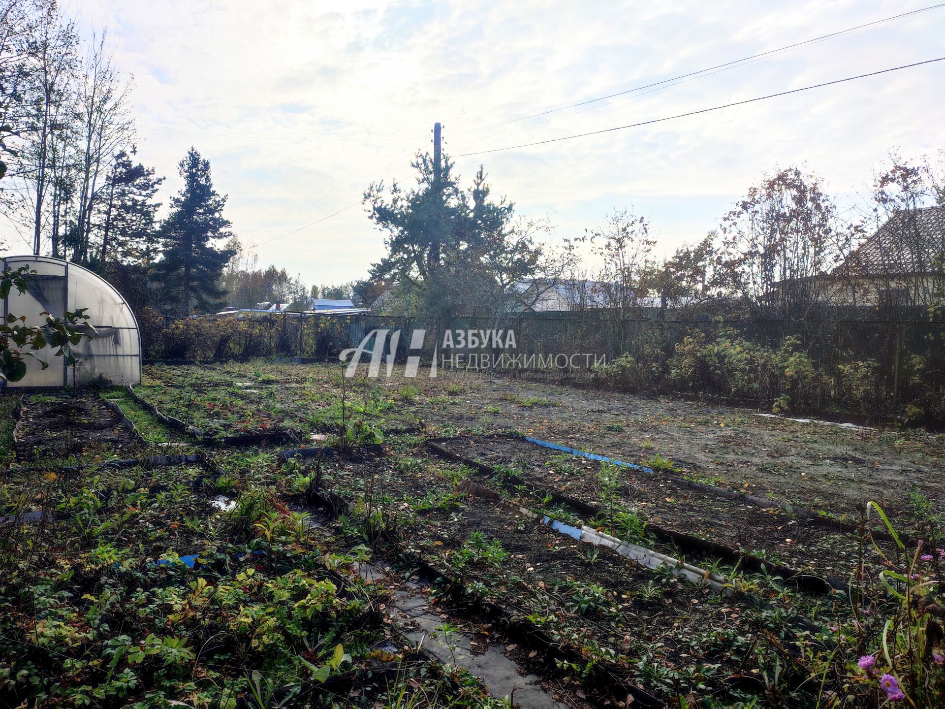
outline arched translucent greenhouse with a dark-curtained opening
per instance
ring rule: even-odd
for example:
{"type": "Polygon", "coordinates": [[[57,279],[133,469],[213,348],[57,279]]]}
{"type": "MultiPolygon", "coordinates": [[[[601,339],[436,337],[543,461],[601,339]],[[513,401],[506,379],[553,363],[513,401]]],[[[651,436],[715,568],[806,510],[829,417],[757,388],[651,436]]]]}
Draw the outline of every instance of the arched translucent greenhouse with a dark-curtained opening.
{"type": "Polygon", "coordinates": [[[45,322],[43,312],[62,318],[66,311],[87,308],[91,335],[76,345],[76,363],[67,367],[52,348],[36,356],[49,366],[27,361],[26,376],[0,387],[64,387],[88,384],[141,383],[141,336],[138,322],[121,294],[88,268],[44,256],[5,256],[3,268],[28,266],[35,271],[25,293],[16,289],[4,299],[4,317],[26,317],[26,324],[45,322]]]}

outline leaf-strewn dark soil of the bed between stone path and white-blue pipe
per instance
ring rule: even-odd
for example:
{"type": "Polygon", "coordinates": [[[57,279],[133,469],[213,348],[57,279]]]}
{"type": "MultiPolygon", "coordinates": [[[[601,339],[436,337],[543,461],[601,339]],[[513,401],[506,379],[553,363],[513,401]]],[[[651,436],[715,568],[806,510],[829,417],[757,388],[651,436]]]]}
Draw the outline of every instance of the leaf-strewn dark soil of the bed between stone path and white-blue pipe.
{"type": "MultiPolygon", "coordinates": [[[[349,502],[364,495],[388,514],[399,512],[399,539],[420,559],[446,575],[460,576],[467,585],[478,582],[478,593],[507,614],[539,618],[530,622],[566,647],[590,652],[589,657],[602,651],[590,648],[610,648],[627,679],[641,681],[633,667],[646,648],[650,661],[687,676],[718,673],[717,682],[739,674],[742,658],[730,637],[748,632],[755,608],[747,599],[724,597],[706,586],[650,571],[610,548],[576,542],[479,497],[437,498],[438,504],[423,509],[416,504],[419,497],[429,500],[431,494],[448,493],[455,486],[438,468],[446,464],[422,456],[418,450],[415,459],[421,465],[411,473],[398,470],[389,458],[330,458],[322,466],[323,485],[349,502]],[[401,502],[410,498],[411,505],[401,502]],[[507,557],[494,565],[469,562],[460,572],[454,555],[473,533],[483,535],[487,543],[498,540],[507,557]],[[607,609],[576,610],[570,590],[574,584],[606,589],[607,609]]],[[[643,685],[661,693],[659,685],[643,685]]],[[[590,688],[587,694],[591,697],[590,688]]]]}

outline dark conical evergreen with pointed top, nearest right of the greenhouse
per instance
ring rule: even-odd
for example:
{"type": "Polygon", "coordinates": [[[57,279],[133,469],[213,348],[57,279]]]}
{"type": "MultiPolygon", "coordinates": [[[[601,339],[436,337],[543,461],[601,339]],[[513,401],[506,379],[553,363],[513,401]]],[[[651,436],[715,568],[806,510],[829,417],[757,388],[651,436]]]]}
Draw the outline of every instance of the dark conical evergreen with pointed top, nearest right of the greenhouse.
{"type": "Polygon", "coordinates": [[[219,281],[232,256],[217,250],[218,239],[232,236],[231,223],[223,217],[226,195],[219,195],[210,177],[210,163],[191,147],[180,161],[183,189],[171,199],[171,213],[161,225],[164,243],[156,273],[163,281],[173,310],[186,317],[196,305],[201,312],[217,310],[226,291],[219,281]]]}

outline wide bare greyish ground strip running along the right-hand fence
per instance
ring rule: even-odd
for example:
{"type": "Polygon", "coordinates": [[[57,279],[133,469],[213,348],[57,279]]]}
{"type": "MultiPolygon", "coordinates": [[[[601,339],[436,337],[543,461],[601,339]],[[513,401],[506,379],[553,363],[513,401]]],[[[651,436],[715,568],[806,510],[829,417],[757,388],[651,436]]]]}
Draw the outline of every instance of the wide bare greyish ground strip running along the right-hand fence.
{"type": "Polygon", "coordinates": [[[852,520],[870,500],[894,518],[910,515],[911,493],[939,510],[945,501],[942,434],[800,423],[669,397],[443,370],[432,381],[422,382],[427,395],[413,409],[434,432],[514,429],[627,462],[659,454],[719,487],[852,520]],[[456,383],[464,390],[455,404],[433,401],[434,391],[456,383]],[[549,403],[520,403],[535,399],[549,403]]]}

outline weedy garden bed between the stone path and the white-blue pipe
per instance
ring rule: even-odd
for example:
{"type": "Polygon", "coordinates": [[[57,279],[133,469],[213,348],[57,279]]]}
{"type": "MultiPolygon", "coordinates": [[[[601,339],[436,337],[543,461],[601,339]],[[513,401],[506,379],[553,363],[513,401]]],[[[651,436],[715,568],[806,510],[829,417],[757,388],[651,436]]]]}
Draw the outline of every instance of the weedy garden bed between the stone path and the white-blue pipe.
{"type": "MultiPolygon", "coordinates": [[[[402,553],[567,648],[572,659],[562,669],[578,678],[587,680],[596,667],[619,685],[663,697],[679,685],[712,687],[734,700],[743,680],[752,684],[742,675],[756,660],[752,629],[764,622],[778,637],[791,635],[796,611],[727,597],[669,566],[646,569],[522,510],[458,493],[455,479],[471,471],[421,455],[333,457],[304,466],[298,490],[318,479],[345,501],[352,510],[346,514],[378,533],[396,530],[402,553]]],[[[752,584],[760,596],[779,594],[764,580],[752,584]]]]}

